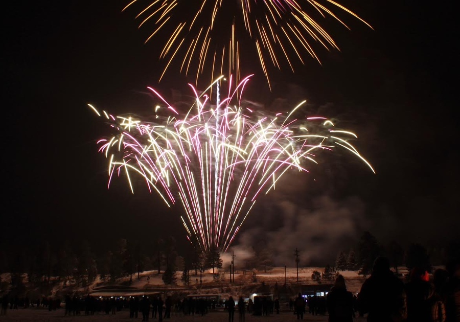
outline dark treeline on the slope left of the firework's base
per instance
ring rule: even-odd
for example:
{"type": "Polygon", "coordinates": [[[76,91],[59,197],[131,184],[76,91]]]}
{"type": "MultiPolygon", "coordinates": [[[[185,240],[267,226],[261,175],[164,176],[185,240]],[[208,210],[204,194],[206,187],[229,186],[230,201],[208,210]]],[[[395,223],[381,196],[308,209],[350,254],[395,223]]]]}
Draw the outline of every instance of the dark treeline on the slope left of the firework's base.
{"type": "MultiPolygon", "coordinates": [[[[145,246],[137,241],[120,239],[103,254],[96,255],[88,241],[77,247],[69,242],[51,245],[43,242],[20,250],[0,246],[0,274],[10,273],[11,281],[0,278],[0,291],[7,289],[24,293],[25,279],[29,285],[47,286],[50,282],[62,282],[63,287],[86,287],[99,276],[104,282],[115,283],[122,278],[140,278],[146,270],[162,273],[165,284],[176,282],[176,271],[182,270],[182,281],[188,284],[189,271],[222,267],[217,247],[202,254],[198,247],[190,245],[179,252],[174,238],[158,239],[145,246]],[[10,251],[8,251],[10,250],[10,251]]],[[[51,284],[52,284],[51,283],[51,284]]]]}

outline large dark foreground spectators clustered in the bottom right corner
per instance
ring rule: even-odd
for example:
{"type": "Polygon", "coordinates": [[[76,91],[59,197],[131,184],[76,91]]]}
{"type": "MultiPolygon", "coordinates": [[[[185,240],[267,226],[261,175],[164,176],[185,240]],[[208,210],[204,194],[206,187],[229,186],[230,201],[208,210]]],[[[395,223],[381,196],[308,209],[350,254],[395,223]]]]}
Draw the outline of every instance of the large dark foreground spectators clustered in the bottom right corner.
{"type": "Polygon", "coordinates": [[[347,291],[338,275],[326,296],[306,300],[299,293],[289,301],[297,319],[304,318],[306,307],[313,315],[328,314],[329,322],[352,322],[356,315],[366,315],[368,322],[460,322],[460,264],[436,269],[432,281],[425,269],[415,267],[404,283],[390,270],[388,259],[379,257],[358,296],[347,291]]]}

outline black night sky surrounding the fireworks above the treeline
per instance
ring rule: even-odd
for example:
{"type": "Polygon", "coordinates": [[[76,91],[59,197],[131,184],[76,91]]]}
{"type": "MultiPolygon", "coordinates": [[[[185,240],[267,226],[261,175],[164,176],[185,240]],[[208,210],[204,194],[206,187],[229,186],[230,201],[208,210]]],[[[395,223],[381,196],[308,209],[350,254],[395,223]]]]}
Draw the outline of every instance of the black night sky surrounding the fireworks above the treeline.
{"type": "MultiPolygon", "coordinates": [[[[343,4],[374,30],[351,17],[351,31],[331,24],[341,52],[319,51],[322,65],[306,59],[295,74],[274,72],[271,92],[258,68],[248,71],[256,76],[247,99],[308,99],[358,133],[357,145],[377,174],[340,158],[317,173],[324,175],[314,181],[320,183],[309,176],[287,180],[284,193],[262,199],[251,214],[243,246],[265,234],[273,241],[297,236],[288,248],[304,236],[305,245],[333,249],[363,229],[382,242],[438,244],[460,228],[453,4],[343,4]],[[266,226],[258,225],[262,214],[266,226]],[[295,232],[286,228],[289,216],[297,218],[295,232]]],[[[14,1],[3,10],[0,216],[8,243],[85,238],[103,250],[122,237],[183,241],[180,208],[167,209],[142,190],[131,195],[124,180],[106,189],[106,160],[95,144],[106,127],[86,103],[142,114],[146,86],[168,96],[190,81],[167,75],[158,84],[159,45],[144,44],[149,30],[138,30],[134,12],[121,12],[124,5],[14,1]]]]}

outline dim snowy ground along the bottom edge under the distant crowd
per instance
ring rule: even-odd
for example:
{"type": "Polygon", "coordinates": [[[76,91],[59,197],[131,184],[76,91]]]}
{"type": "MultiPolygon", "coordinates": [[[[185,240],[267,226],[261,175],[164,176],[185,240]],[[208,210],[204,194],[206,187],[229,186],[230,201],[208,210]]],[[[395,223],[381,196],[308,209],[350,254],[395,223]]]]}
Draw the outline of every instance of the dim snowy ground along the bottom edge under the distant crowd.
{"type": "MultiPolygon", "coordinates": [[[[235,312],[234,322],[238,321],[238,312],[235,312]]],[[[158,319],[149,318],[149,321],[157,321],[158,319]]],[[[296,315],[292,312],[281,312],[280,314],[274,314],[269,316],[253,316],[246,314],[245,322],[284,322],[284,321],[296,321],[296,315]]],[[[305,321],[327,321],[328,316],[311,314],[304,315],[305,321]]],[[[355,318],[356,322],[364,322],[365,318],[355,318]]],[[[117,312],[115,315],[106,315],[106,314],[95,314],[85,316],[64,316],[64,310],[60,309],[57,311],[49,312],[45,309],[19,309],[19,310],[8,310],[6,316],[0,316],[0,321],[8,322],[52,322],[52,321],[62,321],[62,322],[118,322],[118,321],[142,321],[142,315],[139,313],[137,319],[129,318],[129,312],[127,310],[117,312]]],[[[226,312],[212,312],[206,314],[205,316],[191,316],[191,315],[182,315],[179,313],[172,314],[171,318],[164,319],[164,322],[174,322],[174,321],[183,321],[183,322],[228,322],[228,314],[226,312]]]]}

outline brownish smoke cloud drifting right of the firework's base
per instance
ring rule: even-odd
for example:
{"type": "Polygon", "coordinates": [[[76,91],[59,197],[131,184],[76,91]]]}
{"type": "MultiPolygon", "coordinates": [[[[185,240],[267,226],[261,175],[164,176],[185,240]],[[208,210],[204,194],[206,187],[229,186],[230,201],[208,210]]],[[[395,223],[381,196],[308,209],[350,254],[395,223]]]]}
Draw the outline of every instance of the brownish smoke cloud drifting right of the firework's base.
{"type": "Polygon", "coordinates": [[[248,258],[251,252],[265,248],[272,254],[274,265],[292,267],[297,248],[301,266],[332,265],[337,252],[352,247],[368,226],[361,199],[299,196],[306,189],[298,177],[305,178],[289,175],[282,187],[258,200],[257,209],[243,224],[238,245],[233,247],[242,252],[241,257],[248,258]]]}

